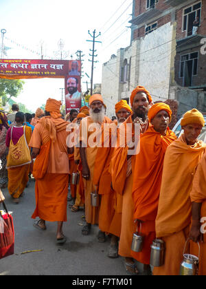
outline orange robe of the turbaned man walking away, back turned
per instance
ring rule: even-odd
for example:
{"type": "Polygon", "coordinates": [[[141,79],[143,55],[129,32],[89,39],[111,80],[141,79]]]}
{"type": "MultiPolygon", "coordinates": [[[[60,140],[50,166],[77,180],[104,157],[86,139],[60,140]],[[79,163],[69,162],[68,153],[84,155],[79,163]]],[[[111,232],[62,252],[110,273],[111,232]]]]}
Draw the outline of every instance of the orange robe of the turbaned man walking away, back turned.
{"type": "Polygon", "coordinates": [[[66,127],[67,122],[61,118],[41,118],[32,134],[30,147],[40,149],[34,162],[36,209],[33,219],[40,217],[48,222],[67,222],[69,158],[66,127]],[[45,120],[49,121],[50,130],[43,126],[45,120]],[[41,167],[47,169],[41,171],[41,167]]]}

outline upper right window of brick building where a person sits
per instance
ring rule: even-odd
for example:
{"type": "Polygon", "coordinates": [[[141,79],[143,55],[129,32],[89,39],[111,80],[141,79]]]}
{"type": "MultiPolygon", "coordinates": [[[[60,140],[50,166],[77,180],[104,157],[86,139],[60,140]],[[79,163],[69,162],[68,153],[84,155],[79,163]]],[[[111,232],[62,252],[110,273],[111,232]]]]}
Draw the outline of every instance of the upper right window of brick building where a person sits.
{"type": "Polygon", "coordinates": [[[187,36],[192,35],[193,22],[196,17],[199,17],[199,22],[201,23],[201,8],[202,3],[197,2],[183,10],[183,31],[186,31],[187,36]]]}

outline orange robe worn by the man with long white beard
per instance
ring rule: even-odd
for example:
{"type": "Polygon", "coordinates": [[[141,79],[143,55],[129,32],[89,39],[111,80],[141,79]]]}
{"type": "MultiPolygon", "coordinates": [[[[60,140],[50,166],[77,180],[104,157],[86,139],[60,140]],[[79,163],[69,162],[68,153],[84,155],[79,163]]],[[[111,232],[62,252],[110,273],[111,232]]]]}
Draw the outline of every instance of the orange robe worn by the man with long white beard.
{"type": "MultiPolygon", "coordinates": [[[[104,117],[104,122],[102,123],[102,129],[104,123],[110,123],[111,120],[104,117]]],[[[87,164],[89,166],[90,171],[90,179],[84,180],[84,195],[85,195],[85,217],[88,224],[98,224],[99,223],[99,213],[100,213],[100,207],[93,207],[91,206],[91,192],[95,191],[97,187],[93,184],[93,175],[94,175],[94,168],[95,168],[95,159],[98,153],[98,147],[90,147],[89,146],[89,138],[93,138],[93,131],[89,131],[89,125],[93,125],[94,122],[91,118],[91,116],[88,116],[87,118],[82,119],[80,123],[80,141],[86,142],[84,139],[84,133],[86,133],[87,136],[87,143],[86,146],[86,158],[87,158],[87,164]]],[[[102,135],[101,131],[99,131],[100,135],[102,135]]],[[[94,140],[95,141],[95,140],[94,140]]]]}

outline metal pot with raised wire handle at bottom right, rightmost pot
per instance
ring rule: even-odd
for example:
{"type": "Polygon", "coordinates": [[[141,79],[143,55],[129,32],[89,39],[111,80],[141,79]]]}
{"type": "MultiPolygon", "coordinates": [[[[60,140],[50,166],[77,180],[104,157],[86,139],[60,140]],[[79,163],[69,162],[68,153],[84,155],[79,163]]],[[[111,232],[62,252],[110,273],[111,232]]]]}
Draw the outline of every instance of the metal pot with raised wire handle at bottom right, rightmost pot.
{"type": "MultiPolygon", "coordinates": [[[[187,242],[189,239],[187,239],[187,242]]],[[[184,253],[183,253],[183,262],[181,263],[180,268],[180,276],[196,276],[198,273],[198,264],[200,259],[201,247],[198,243],[199,247],[199,255],[198,257],[190,254],[185,254],[185,249],[187,246],[187,242],[185,244],[184,253]]]]}

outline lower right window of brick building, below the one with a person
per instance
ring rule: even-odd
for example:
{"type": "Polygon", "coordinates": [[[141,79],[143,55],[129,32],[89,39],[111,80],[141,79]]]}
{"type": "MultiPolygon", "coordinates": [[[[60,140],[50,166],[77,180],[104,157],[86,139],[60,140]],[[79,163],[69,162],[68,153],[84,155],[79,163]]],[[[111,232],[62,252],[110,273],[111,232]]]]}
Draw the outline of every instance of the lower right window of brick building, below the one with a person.
{"type": "Polygon", "coordinates": [[[183,78],[183,86],[192,86],[193,76],[198,75],[198,52],[181,55],[179,77],[183,78]]]}

